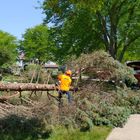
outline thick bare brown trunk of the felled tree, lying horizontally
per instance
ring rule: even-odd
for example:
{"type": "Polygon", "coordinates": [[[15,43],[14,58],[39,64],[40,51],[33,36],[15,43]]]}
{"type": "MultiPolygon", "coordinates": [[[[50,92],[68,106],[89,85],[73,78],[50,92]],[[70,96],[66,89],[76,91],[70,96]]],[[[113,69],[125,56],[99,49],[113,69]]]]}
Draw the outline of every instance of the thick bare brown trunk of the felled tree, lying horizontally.
{"type": "Polygon", "coordinates": [[[0,83],[0,91],[51,91],[55,89],[54,84],[0,83]]]}

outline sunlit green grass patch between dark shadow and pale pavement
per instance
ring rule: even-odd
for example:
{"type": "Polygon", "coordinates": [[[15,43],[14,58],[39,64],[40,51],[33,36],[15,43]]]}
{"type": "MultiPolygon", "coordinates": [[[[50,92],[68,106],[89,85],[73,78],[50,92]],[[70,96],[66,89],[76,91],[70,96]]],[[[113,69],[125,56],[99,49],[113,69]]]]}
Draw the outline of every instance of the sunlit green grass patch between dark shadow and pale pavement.
{"type": "Polygon", "coordinates": [[[52,133],[48,140],[106,140],[110,131],[111,128],[105,126],[94,126],[94,128],[88,132],[60,129],[52,133]]]}

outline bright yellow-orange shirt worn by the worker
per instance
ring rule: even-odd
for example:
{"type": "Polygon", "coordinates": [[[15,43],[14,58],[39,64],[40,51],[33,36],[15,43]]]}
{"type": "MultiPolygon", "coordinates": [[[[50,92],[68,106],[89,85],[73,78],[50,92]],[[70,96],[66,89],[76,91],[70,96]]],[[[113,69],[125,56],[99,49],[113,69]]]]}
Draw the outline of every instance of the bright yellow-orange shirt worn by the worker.
{"type": "Polygon", "coordinates": [[[59,75],[58,80],[60,81],[59,89],[69,91],[71,85],[71,78],[65,74],[59,75]]]}

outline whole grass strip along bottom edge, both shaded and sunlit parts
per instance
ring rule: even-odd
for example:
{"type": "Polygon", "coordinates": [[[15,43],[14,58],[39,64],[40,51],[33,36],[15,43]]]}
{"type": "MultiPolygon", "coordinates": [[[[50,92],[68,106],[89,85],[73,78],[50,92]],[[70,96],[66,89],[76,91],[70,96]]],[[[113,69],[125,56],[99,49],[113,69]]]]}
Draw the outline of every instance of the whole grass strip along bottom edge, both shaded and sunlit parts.
{"type": "Polygon", "coordinates": [[[80,132],[75,129],[67,130],[64,128],[57,128],[50,136],[39,136],[36,134],[30,135],[29,133],[26,134],[24,132],[18,132],[15,134],[0,133],[0,138],[2,140],[106,140],[110,131],[111,128],[105,126],[96,126],[89,132],[80,132]]]}

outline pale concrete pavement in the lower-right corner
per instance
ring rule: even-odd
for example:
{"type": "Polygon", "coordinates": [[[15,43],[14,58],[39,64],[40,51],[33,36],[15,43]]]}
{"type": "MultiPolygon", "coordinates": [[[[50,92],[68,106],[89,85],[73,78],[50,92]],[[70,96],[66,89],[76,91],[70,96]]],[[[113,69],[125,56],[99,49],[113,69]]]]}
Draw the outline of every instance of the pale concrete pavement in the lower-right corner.
{"type": "Polygon", "coordinates": [[[140,140],[140,115],[131,115],[123,128],[114,128],[106,140],[140,140]]]}

